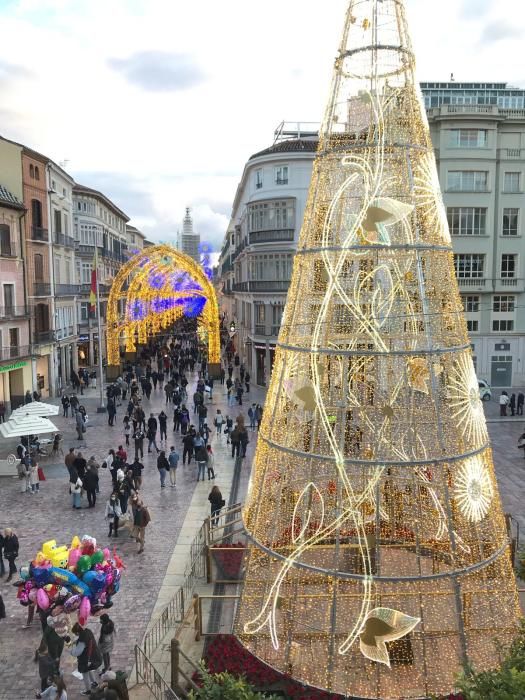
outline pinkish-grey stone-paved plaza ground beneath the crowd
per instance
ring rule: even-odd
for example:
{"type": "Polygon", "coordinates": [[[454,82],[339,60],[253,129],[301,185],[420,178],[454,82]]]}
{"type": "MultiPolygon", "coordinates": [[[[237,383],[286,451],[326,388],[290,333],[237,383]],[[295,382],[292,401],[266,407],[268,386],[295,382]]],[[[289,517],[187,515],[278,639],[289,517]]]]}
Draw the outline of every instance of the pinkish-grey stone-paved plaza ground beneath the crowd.
{"type": "MultiPolygon", "coordinates": [[[[190,382],[189,395],[193,394],[194,384],[190,382]]],[[[160,390],[152,395],[148,403],[144,400],[144,409],[158,414],[165,408],[163,392],[160,390]]],[[[217,382],[214,389],[213,404],[208,404],[208,423],[211,425],[213,414],[217,408],[221,408],[224,414],[230,411],[230,415],[236,416],[241,410],[246,412],[249,404],[244,401],[242,409],[232,407],[228,409],[225,402],[224,389],[217,382]]],[[[250,400],[261,402],[263,393],[257,388],[252,388],[250,400]]],[[[98,401],[96,392],[90,390],[82,397],[89,415],[89,425],[85,433],[85,443],[81,450],[86,458],[96,455],[102,461],[107,450],[117,448],[124,443],[122,433],[122,418],[124,407],[118,409],[115,427],[107,425],[107,415],[97,414],[98,401]]],[[[188,404],[188,408],[190,408],[188,404]]],[[[171,425],[172,410],[166,411],[171,425]]],[[[190,409],[191,412],[191,409],[190,409]]],[[[78,447],[78,440],[74,438],[75,431],[71,418],[64,419],[61,416],[53,418],[57,427],[63,431],[64,452],[69,447],[78,447]]],[[[177,435],[175,441],[169,441],[167,447],[175,444],[182,454],[181,438],[177,435]]],[[[255,440],[249,445],[248,459],[250,459],[255,446],[255,440]]],[[[15,445],[2,443],[0,458],[13,451],[15,445]]],[[[224,454],[224,450],[220,450],[224,454]]],[[[104,510],[110,493],[111,478],[106,470],[100,470],[100,496],[97,505],[93,509],[87,509],[87,503],[83,502],[83,510],[72,509],[71,497],[68,493],[68,477],[65,466],[62,464],[46,465],[43,462],[46,481],[40,484],[40,493],[22,494],[19,492],[19,482],[16,478],[4,477],[0,479],[0,527],[11,526],[16,531],[20,540],[20,556],[17,564],[20,567],[41,548],[42,543],[49,539],[56,539],[59,544],[68,544],[74,535],[89,534],[97,538],[102,546],[117,544],[119,555],[122,556],[127,569],[122,580],[122,587],[115,596],[114,606],[110,611],[112,619],[117,626],[117,638],[115,651],[112,655],[113,669],[130,669],[133,665],[133,647],[140,642],[150,619],[152,610],[157,600],[170,556],[184,521],[188,505],[196,488],[202,489],[202,498],[208,497],[207,483],[197,484],[195,465],[179,466],[177,474],[177,487],[160,488],[158,471],[156,468],[156,455],[144,455],[144,480],[143,496],[150,508],[152,522],[146,531],[145,552],[138,555],[136,544],[127,533],[121,533],[118,540],[107,538],[107,526],[104,521],[104,510]],[[126,535],[124,537],[124,534],[126,535]]],[[[220,461],[217,460],[220,473],[220,461]]],[[[246,469],[245,471],[248,471],[246,469]]],[[[183,573],[183,572],[181,572],[183,573]]],[[[40,623],[35,619],[29,629],[23,629],[26,609],[20,606],[15,598],[15,589],[11,584],[6,584],[5,577],[0,579],[0,593],[6,604],[7,619],[0,621],[0,700],[29,700],[34,698],[34,691],[39,685],[38,669],[32,658],[35,648],[40,641],[40,623]]],[[[90,627],[98,633],[98,622],[91,618],[90,627]]],[[[63,667],[66,670],[66,682],[68,683],[68,697],[72,700],[80,698],[83,689],[81,681],[71,677],[70,671],[74,669],[73,659],[66,652],[62,657],[63,667]]]]}

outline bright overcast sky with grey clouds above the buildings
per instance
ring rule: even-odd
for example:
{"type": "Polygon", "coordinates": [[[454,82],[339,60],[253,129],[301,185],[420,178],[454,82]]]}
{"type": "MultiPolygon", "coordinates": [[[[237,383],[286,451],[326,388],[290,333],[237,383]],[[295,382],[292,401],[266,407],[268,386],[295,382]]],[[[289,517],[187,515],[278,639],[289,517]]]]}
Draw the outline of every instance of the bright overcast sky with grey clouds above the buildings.
{"type": "MultiPolygon", "coordinates": [[[[320,121],[349,0],[0,0],[0,134],[215,249],[247,158],[320,121]]],[[[420,80],[525,86],[523,0],[406,0],[420,80]]]]}

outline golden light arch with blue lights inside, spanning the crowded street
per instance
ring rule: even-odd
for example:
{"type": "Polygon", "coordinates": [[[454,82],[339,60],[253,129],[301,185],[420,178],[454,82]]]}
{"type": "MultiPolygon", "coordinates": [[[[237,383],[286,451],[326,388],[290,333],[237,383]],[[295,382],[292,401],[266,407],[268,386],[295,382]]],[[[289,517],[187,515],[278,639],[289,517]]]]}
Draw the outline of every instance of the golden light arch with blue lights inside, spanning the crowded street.
{"type": "Polygon", "coordinates": [[[111,287],[108,365],[119,365],[121,343],[126,352],[134,352],[137,344],[146,343],[183,316],[198,318],[208,339],[210,367],[220,363],[219,306],[204,270],[169,245],[145,248],[121,268],[111,287]]]}

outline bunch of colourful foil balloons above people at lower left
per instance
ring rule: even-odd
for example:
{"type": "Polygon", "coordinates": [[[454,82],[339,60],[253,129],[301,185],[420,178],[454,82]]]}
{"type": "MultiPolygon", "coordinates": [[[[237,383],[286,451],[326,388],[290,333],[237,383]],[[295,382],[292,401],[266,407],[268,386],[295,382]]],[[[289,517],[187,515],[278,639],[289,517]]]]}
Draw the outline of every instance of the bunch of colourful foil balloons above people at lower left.
{"type": "Polygon", "coordinates": [[[53,616],[78,611],[85,626],[90,615],[113,605],[124,568],[115,550],[112,555],[100,549],[89,535],[75,536],[69,548],[50,540],[29,566],[21,567],[17,597],[22,605],[33,603],[53,616]]]}

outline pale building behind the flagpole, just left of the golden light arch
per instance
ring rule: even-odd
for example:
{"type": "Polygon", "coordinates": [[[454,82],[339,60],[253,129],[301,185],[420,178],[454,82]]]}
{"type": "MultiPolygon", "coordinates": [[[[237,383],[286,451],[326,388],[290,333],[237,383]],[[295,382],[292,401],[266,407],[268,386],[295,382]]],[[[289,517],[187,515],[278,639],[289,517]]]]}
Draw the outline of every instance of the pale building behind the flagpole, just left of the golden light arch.
{"type": "Polygon", "coordinates": [[[76,244],[76,279],[80,288],[77,301],[77,358],[80,367],[98,364],[99,352],[106,357],[106,308],[111,284],[119,268],[129,258],[126,225],[129,217],[106,195],[85,185],[73,187],[73,236],[76,244]],[[91,272],[98,258],[101,332],[90,313],[91,272]]]}

